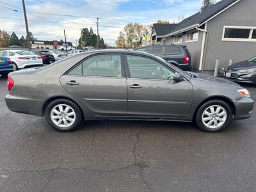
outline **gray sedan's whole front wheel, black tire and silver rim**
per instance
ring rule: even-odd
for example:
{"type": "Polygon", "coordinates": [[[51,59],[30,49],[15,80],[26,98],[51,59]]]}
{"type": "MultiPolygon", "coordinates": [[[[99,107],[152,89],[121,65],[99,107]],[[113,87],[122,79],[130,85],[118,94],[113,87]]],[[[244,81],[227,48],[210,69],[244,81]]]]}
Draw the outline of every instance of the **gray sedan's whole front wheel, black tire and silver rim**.
{"type": "Polygon", "coordinates": [[[231,124],[232,109],[223,100],[209,100],[196,113],[196,124],[205,132],[220,132],[231,124]]]}

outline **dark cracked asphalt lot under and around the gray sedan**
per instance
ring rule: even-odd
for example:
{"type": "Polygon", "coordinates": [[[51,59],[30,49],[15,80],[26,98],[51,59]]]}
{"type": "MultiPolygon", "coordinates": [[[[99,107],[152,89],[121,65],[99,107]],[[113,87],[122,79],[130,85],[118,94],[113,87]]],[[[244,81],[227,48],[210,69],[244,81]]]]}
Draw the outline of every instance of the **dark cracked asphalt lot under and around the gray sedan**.
{"type": "MultiPolygon", "coordinates": [[[[256,86],[246,86],[256,100],[256,86]]],[[[8,111],[0,77],[0,191],[256,191],[256,114],[225,132],[90,121],[56,132],[8,111]]]]}

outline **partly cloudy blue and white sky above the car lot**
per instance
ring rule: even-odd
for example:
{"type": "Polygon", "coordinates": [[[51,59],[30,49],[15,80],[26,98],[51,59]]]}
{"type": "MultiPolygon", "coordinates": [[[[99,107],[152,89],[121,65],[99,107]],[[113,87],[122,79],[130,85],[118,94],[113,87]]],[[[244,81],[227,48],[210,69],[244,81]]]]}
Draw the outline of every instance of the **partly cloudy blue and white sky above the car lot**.
{"type": "MultiPolygon", "coordinates": [[[[180,15],[188,17],[198,12],[201,4],[201,0],[26,0],[26,10],[29,31],[38,40],[64,39],[65,28],[68,41],[75,45],[79,28],[92,27],[96,32],[99,17],[100,36],[114,45],[127,22],[172,22],[180,15]]],[[[0,0],[0,29],[15,31],[19,38],[26,35],[21,0],[0,0]]]]}

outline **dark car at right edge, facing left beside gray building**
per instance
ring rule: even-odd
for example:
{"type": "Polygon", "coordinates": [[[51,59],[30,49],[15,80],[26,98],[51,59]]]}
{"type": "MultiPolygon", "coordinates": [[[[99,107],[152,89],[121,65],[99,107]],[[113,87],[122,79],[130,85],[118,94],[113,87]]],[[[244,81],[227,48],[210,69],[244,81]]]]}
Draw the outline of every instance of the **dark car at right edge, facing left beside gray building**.
{"type": "Polygon", "coordinates": [[[256,84],[256,57],[229,65],[224,76],[232,81],[256,84]]]}

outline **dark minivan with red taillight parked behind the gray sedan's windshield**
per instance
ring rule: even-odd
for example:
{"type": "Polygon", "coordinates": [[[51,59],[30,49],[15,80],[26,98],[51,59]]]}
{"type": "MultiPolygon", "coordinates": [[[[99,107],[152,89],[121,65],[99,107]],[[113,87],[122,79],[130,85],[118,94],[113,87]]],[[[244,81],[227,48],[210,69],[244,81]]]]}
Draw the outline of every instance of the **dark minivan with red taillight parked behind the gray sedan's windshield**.
{"type": "Polygon", "coordinates": [[[191,55],[185,45],[155,45],[138,47],[134,51],[154,54],[182,70],[191,70],[191,55]]]}

